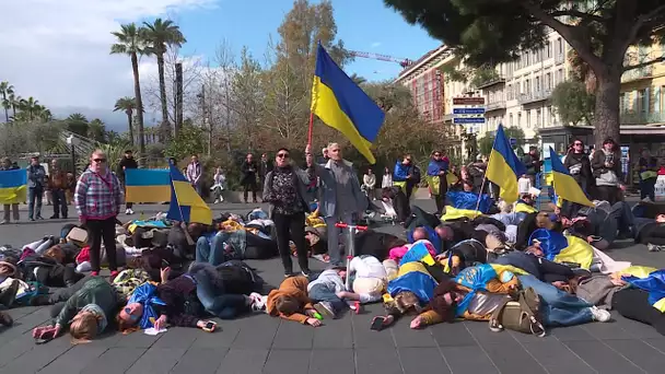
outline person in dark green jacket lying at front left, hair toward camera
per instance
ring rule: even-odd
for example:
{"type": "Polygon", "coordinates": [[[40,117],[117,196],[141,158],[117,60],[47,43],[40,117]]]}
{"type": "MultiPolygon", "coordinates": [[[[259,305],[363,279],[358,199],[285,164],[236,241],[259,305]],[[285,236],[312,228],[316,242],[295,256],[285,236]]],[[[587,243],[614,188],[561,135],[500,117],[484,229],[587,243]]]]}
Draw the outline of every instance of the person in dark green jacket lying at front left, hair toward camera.
{"type": "Polygon", "coordinates": [[[90,341],[104,332],[120,302],[104,278],[93,276],[66,303],[51,307],[54,325],[36,327],[33,337],[49,340],[69,327],[74,341],[90,341]]]}

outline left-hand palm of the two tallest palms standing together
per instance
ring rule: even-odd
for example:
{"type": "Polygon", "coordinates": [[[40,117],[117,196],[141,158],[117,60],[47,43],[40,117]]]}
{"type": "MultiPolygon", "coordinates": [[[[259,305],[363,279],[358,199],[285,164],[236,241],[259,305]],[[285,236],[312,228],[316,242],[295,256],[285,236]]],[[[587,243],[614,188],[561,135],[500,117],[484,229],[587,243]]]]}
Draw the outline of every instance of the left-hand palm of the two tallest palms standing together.
{"type": "Polygon", "coordinates": [[[139,55],[144,54],[143,32],[135,23],[120,26],[119,32],[112,33],[117,43],[110,46],[112,54],[129,55],[133,71],[133,91],[137,109],[137,127],[139,129],[139,153],[145,153],[143,139],[143,101],[141,100],[141,83],[139,81],[139,55]]]}

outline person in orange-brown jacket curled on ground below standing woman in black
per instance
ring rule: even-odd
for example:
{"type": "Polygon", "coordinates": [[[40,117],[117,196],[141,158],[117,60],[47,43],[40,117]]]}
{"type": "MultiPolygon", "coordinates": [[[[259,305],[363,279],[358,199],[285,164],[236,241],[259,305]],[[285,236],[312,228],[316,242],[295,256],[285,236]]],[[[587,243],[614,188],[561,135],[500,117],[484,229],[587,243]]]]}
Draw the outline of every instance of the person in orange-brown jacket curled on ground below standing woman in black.
{"type": "Polygon", "coordinates": [[[308,282],[304,276],[284,279],[279,289],[268,294],[266,312],[273,317],[279,316],[313,327],[320,326],[320,320],[314,317],[317,312],[307,295],[308,282]]]}

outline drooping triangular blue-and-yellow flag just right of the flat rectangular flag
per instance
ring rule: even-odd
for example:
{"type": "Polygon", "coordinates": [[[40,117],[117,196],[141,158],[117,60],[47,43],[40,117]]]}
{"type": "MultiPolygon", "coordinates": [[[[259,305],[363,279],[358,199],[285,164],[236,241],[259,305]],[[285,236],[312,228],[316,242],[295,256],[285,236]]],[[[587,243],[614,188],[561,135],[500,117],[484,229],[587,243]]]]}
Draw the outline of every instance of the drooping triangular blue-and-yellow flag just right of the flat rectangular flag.
{"type": "Polygon", "coordinates": [[[187,223],[212,224],[212,211],[189,180],[173,164],[171,167],[171,207],[166,218],[187,223]]]}

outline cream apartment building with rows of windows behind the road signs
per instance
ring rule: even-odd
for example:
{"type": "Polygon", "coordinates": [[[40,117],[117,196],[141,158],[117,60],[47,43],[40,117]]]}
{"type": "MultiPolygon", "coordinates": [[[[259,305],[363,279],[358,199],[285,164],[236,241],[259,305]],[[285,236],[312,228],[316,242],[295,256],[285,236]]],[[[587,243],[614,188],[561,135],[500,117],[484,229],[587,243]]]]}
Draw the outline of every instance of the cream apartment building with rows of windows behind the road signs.
{"type": "MultiPolygon", "coordinates": [[[[550,97],[553,87],[570,75],[569,48],[559,34],[550,32],[542,48],[523,51],[517,60],[498,65],[491,79],[471,84],[471,79],[458,82],[445,77],[445,67],[452,66],[457,70],[465,67],[447,47],[441,46],[405,69],[396,82],[411,90],[413,101],[425,118],[435,118],[448,125],[453,122],[454,97],[483,96],[486,122],[469,125],[463,130],[476,132],[481,138],[503,124],[522,128],[528,141],[538,135],[539,128],[560,125],[550,97]],[[435,93],[442,96],[443,107],[441,112],[435,112],[435,117],[428,117],[431,105],[435,104],[429,101],[427,94],[431,85],[421,83],[428,77],[430,81],[431,77],[436,77],[439,90],[435,93]]],[[[455,128],[462,130],[459,126],[455,128]]]]}

